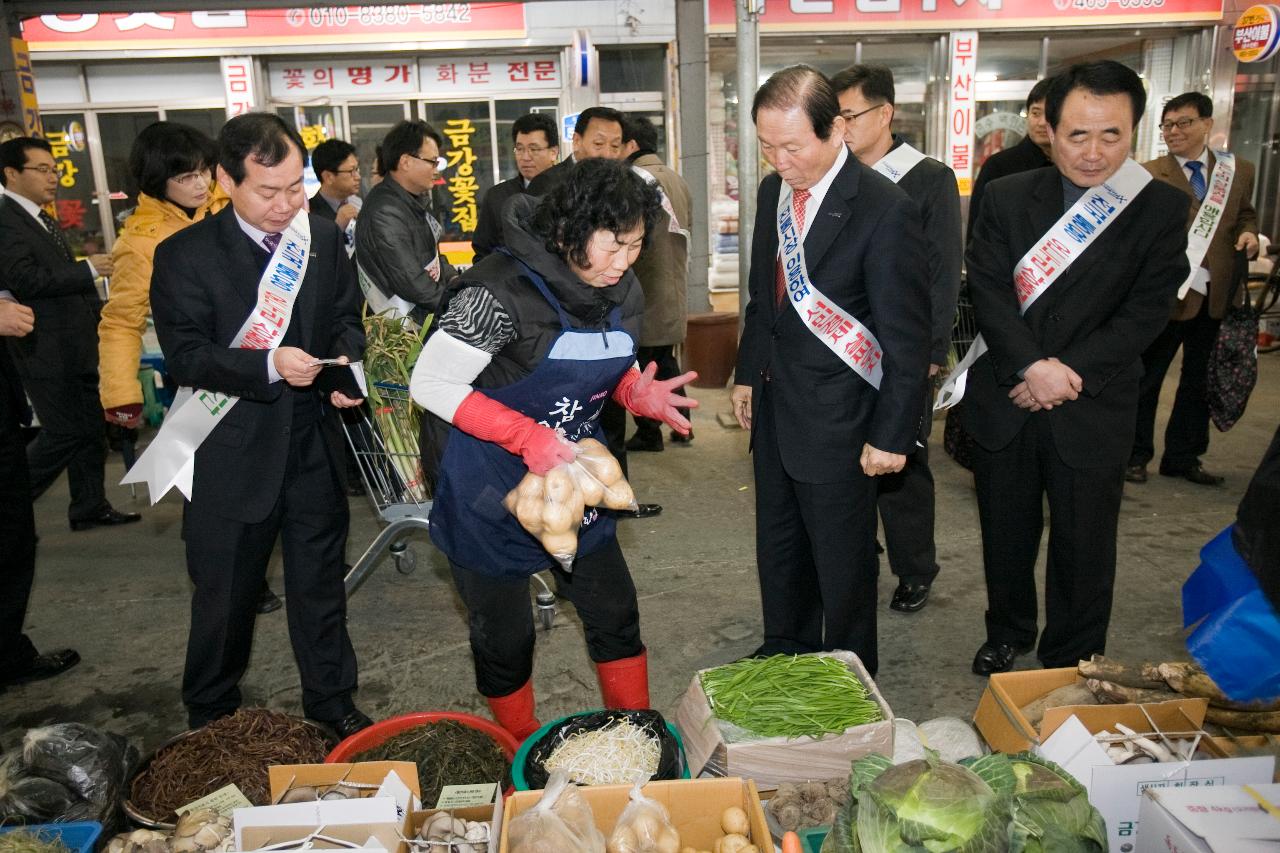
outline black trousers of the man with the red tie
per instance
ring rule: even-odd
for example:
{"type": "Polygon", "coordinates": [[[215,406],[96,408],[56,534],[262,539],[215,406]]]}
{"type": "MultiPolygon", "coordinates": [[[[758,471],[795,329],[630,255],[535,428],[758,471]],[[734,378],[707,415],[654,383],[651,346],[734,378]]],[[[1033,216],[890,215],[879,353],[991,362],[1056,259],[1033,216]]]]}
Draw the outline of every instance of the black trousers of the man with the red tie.
{"type": "MultiPolygon", "coordinates": [[[[782,465],[768,392],[756,406],[755,558],[765,654],[846,649],[874,675],[876,484],[800,483],[782,465]]],[[[859,452],[861,448],[850,448],[859,452]]]]}

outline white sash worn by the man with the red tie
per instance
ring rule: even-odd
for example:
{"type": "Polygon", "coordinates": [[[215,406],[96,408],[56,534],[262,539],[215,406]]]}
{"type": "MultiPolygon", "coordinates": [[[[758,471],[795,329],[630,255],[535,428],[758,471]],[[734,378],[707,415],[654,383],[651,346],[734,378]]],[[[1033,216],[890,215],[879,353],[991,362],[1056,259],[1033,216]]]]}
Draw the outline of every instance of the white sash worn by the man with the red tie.
{"type": "Polygon", "coordinates": [[[791,209],[791,187],[783,182],[778,197],[778,255],[786,284],[786,298],[815,338],[823,342],[845,366],[879,391],[884,352],[872,330],[852,314],[823,296],[809,279],[804,260],[804,240],[791,209]]]}

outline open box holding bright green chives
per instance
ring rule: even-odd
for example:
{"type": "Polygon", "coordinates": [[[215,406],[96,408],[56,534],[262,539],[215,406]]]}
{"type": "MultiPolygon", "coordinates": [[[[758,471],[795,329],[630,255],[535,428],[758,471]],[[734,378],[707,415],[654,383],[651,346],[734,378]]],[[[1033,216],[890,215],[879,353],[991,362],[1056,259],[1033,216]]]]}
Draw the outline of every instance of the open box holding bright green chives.
{"type": "Polygon", "coordinates": [[[844,661],[858,675],[879,706],[883,720],[854,726],[840,735],[762,738],[727,743],[712,715],[707,694],[703,693],[701,672],[699,672],[694,675],[689,690],[676,710],[676,726],[685,740],[689,772],[694,776],[703,771],[713,776],[742,776],[754,779],[760,785],[774,786],[783,781],[840,779],[847,776],[849,765],[863,756],[873,752],[892,756],[893,712],[867,672],[867,667],[852,652],[823,654],[844,661]]]}

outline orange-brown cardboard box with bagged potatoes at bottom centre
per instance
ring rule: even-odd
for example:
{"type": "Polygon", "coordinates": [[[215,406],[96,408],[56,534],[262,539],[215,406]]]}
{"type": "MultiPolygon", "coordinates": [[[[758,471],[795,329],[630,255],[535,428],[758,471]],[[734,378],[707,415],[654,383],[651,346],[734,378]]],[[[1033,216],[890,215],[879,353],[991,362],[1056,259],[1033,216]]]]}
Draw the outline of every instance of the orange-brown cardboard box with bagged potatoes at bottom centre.
{"type": "MultiPolygon", "coordinates": [[[[591,806],[595,826],[609,836],[618,822],[622,809],[631,802],[631,785],[600,785],[579,788],[591,806]]],[[[760,808],[760,795],[755,783],[744,779],[680,779],[675,781],[655,781],[644,786],[645,797],[655,799],[667,808],[671,822],[680,833],[680,845],[709,850],[723,833],[719,816],[730,806],[737,806],[746,812],[751,822],[751,843],[762,850],[772,849],[769,825],[764,821],[760,808]]],[[[517,790],[506,803],[502,817],[502,838],[498,853],[509,853],[508,835],[511,821],[532,808],[543,792],[517,790]]],[[[492,849],[492,848],[490,848],[492,849]]]]}

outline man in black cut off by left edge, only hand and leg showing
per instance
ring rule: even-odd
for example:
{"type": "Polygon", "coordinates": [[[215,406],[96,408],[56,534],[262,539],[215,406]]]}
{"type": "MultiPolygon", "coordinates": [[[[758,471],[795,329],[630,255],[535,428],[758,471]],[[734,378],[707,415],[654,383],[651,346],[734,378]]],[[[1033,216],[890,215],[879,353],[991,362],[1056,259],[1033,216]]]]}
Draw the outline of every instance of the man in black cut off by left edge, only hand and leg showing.
{"type": "MultiPolygon", "coordinates": [[[[36,314],[26,305],[0,297],[0,338],[23,338],[35,328],[36,314]]],[[[79,662],[74,649],[36,652],[22,633],[36,576],[36,515],[31,507],[27,448],[22,426],[31,421],[22,382],[0,346],[0,690],[65,672],[79,662]]]]}

